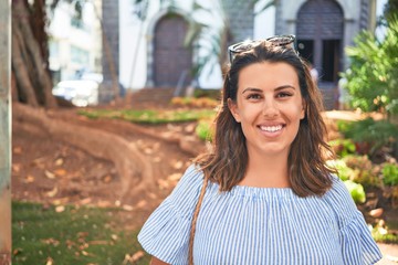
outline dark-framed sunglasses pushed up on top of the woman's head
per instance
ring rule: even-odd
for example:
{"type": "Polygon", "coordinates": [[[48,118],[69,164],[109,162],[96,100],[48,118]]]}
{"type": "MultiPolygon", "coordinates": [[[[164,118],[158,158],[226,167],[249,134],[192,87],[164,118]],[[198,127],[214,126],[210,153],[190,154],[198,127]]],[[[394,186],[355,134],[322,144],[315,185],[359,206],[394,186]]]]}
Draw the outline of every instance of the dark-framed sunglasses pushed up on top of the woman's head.
{"type": "Polygon", "coordinates": [[[293,50],[296,51],[295,45],[294,45],[295,35],[275,35],[275,36],[268,38],[265,40],[256,40],[256,41],[249,40],[249,41],[243,41],[243,42],[232,44],[228,47],[230,63],[233,62],[237,54],[247,52],[263,42],[270,42],[272,45],[275,45],[275,46],[289,46],[290,45],[293,47],[293,50]]]}

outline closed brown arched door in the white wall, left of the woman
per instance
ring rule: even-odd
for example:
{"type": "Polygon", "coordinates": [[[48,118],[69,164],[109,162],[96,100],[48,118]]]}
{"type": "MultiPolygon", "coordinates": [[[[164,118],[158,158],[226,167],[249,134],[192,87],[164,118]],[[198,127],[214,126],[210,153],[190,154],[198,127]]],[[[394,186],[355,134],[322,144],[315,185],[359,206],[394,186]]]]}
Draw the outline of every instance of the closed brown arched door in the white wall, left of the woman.
{"type": "Polygon", "coordinates": [[[154,85],[186,87],[191,83],[192,51],[184,46],[188,22],[168,13],[156,24],[154,39],[154,85]]]}

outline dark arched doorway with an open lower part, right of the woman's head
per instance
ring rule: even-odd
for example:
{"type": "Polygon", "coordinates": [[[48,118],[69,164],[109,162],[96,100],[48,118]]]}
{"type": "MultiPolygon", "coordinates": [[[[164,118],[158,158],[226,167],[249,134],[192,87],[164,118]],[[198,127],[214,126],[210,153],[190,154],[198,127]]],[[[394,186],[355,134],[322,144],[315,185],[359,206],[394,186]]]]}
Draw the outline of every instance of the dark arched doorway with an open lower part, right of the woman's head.
{"type": "Polygon", "coordinates": [[[320,72],[321,86],[336,84],[343,67],[344,14],[334,0],[308,0],[298,11],[297,49],[320,72]]]}

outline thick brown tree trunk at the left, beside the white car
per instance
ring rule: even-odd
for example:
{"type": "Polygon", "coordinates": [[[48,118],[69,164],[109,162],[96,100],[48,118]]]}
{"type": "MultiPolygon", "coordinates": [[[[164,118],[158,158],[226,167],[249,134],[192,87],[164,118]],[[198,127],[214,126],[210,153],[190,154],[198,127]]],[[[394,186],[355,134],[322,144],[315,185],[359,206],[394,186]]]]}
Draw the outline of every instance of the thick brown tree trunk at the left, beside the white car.
{"type": "Polygon", "coordinates": [[[12,95],[31,106],[55,107],[45,21],[44,0],[12,1],[12,95]]]}

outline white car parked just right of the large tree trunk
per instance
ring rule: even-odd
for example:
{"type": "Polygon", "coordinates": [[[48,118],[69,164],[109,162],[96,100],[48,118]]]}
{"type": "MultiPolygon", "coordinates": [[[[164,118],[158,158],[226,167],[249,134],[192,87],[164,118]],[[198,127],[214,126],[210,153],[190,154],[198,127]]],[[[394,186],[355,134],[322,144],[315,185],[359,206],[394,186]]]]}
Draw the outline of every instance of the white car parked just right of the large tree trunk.
{"type": "Polygon", "coordinates": [[[77,107],[98,104],[100,84],[91,80],[61,81],[52,89],[52,94],[72,102],[77,107]]]}

